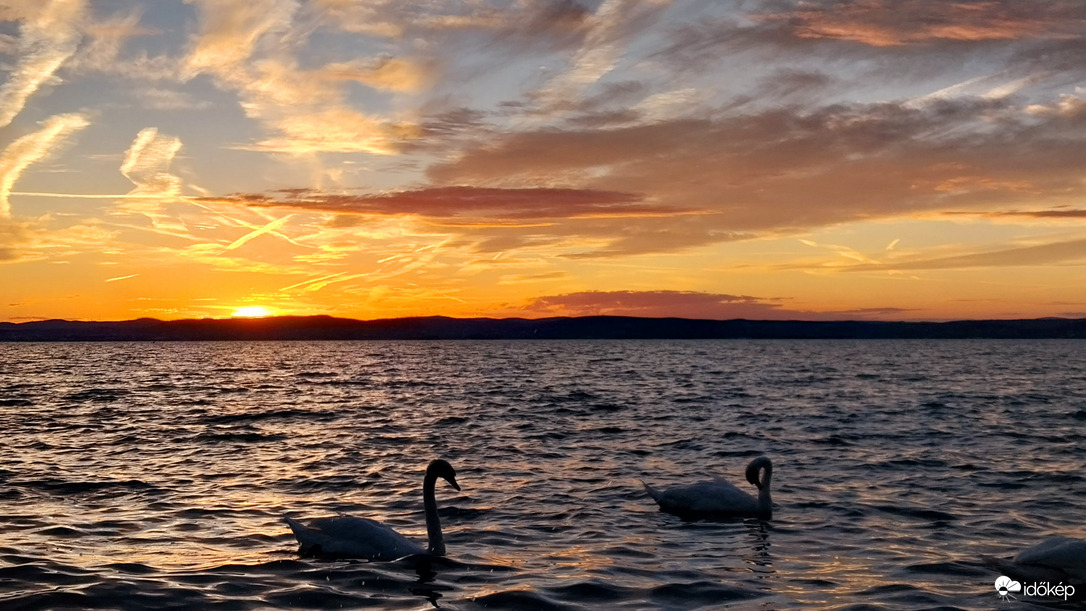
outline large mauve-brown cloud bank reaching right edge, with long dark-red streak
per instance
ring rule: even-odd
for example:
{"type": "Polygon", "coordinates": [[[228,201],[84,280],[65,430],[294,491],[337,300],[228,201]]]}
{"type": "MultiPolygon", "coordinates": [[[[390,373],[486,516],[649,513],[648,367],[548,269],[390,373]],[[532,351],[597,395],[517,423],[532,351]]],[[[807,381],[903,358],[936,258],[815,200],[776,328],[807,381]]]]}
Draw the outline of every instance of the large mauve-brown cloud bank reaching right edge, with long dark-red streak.
{"type": "MultiPolygon", "coordinates": [[[[449,138],[480,120],[462,109],[430,129],[449,138]]],[[[1076,154],[1086,122],[1025,113],[1009,99],[786,106],[488,133],[432,165],[431,187],[222,200],[415,215],[475,240],[481,253],[546,245],[551,256],[593,258],[945,209],[1055,209],[1086,196],[1076,154]]]]}

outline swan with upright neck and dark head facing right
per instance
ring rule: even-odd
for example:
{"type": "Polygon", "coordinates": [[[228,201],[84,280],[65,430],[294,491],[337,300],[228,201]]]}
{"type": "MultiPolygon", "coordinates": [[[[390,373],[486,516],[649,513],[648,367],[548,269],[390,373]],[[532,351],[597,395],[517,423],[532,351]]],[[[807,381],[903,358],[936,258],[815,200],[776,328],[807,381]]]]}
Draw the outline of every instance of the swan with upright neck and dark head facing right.
{"type": "Polygon", "coordinates": [[[366,518],[338,515],[321,518],[308,525],[286,515],[287,524],[294,532],[303,556],[331,556],[337,558],[365,558],[368,560],[395,560],[404,556],[429,553],[445,555],[445,539],[441,535],[441,520],[438,518],[438,501],[433,497],[433,486],[438,478],[460,489],[456,483],[456,471],[442,459],[430,462],[422,478],[422,505],[426,508],[426,533],[429,547],[422,549],[391,527],[366,518]]]}

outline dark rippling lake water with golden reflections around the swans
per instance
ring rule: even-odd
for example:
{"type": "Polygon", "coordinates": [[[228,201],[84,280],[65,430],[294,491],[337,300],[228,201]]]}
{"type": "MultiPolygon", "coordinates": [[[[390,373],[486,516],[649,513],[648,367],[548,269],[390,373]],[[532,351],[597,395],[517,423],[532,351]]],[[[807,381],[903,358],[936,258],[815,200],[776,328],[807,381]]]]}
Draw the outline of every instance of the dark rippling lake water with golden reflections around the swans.
{"type": "Polygon", "coordinates": [[[0,608],[1018,609],[1086,537],[1086,342],[0,344],[0,608]],[[654,485],[773,460],[773,520],[654,485]],[[447,559],[300,558],[376,518],[447,559]]]}

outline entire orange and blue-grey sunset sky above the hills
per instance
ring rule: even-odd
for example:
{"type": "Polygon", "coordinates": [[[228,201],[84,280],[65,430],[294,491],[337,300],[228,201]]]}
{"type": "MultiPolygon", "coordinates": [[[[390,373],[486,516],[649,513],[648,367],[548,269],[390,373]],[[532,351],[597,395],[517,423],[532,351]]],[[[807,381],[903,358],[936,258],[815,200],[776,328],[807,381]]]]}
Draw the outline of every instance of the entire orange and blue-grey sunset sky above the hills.
{"type": "Polygon", "coordinates": [[[0,0],[0,320],[1086,317],[1081,0],[0,0]]]}

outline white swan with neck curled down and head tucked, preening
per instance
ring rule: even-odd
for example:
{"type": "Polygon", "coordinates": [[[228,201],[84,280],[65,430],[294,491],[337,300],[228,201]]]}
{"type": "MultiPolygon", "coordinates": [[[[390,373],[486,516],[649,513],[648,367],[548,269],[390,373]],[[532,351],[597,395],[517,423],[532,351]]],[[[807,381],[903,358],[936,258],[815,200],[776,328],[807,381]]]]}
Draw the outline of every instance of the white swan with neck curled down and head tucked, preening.
{"type": "Polygon", "coordinates": [[[642,484],[660,506],[660,511],[680,518],[744,517],[769,520],[773,517],[773,500],[769,496],[772,476],[773,463],[769,458],[759,456],[747,464],[746,470],[747,481],[758,486],[758,498],[721,478],[666,491],[656,489],[645,482],[642,484]]]}

